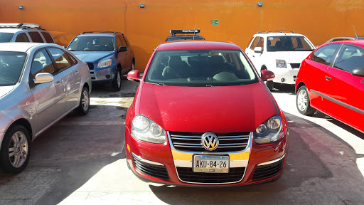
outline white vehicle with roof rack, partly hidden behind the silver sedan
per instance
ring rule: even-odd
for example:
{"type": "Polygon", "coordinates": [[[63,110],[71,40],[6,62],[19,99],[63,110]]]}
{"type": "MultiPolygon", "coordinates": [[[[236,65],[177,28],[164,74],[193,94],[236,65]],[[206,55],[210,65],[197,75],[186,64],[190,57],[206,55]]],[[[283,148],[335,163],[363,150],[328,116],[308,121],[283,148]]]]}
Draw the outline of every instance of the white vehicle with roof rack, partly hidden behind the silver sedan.
{"type": "Polygon", "coordinates": [[[0,43],[55,43],[52,35],[35,23],[0,23],[0,43]]]}

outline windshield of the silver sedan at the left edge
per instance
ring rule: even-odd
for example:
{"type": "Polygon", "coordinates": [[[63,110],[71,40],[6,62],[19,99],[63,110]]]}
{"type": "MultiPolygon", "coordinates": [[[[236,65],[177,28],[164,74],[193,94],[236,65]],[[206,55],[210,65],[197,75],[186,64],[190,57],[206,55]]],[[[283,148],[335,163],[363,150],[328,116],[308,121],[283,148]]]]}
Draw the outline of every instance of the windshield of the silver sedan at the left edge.
{"type": "Polygon", "coordinates": [[[15,85],[25,61],[26,53],[0,51],[0,86],[15,85]]]}

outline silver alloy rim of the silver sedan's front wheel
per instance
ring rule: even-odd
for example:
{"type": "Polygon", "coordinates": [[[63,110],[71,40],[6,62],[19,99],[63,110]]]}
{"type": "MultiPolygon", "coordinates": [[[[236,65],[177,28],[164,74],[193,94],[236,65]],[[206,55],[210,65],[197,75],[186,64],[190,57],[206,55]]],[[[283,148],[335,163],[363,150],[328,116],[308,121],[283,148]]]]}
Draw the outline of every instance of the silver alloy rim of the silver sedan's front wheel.
{"type": "Polygon", "coordinates": [[[11,165],[18,168],[26,162],[26,157],[28,157],[28,140],[26,135],[21,132],[15,132],[11,136],[9,142],[9,159],[11,165]]]}

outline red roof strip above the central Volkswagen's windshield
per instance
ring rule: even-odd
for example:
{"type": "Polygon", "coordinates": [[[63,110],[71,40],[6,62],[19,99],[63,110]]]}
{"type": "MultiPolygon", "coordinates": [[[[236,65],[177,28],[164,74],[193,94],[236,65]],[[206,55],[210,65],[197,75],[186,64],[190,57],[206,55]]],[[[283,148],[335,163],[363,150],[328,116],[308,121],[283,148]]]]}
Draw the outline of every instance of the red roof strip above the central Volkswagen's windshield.
{"type": "Polygon", "coordinates": [[[183,50],[183,49],[230,49],[240,50],[241,48],[231,42],[221,41],[168,41],[161,43],[157,51],[183,50]]]}

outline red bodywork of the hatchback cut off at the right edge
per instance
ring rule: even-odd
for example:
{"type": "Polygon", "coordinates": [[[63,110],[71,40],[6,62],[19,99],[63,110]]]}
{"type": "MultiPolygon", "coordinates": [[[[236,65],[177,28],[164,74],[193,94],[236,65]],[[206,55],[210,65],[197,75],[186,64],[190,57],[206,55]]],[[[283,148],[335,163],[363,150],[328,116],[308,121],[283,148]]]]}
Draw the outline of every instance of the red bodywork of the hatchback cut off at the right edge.
{"type": "MultiPolygon", "coordinates": [[[[360,46],[364,49],[364,41],[335,43],[360,46]]],[[[328,44],[333,43],[323,46],[328,44]]],[[[301,63],[296,79],[296,91],[301,85],[306,85],[311,107],[364,132],[364,77],[311,61],[312,53],[301,63]]]]}

